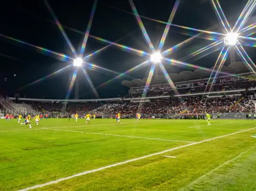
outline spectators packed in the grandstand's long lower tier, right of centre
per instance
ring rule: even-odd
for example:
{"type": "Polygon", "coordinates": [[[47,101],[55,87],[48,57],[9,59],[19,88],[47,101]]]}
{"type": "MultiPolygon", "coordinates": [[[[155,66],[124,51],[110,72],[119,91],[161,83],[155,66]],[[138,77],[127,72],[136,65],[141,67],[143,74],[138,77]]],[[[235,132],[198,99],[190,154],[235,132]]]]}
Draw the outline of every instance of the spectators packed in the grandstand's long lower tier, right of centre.
{"type": "Polygon", "coordinates": [[[193,97],[152,99],[148,102],[105,104],[94,110],[97,114],[131,115],[137,112],[143,114],[185,114],[185,113],[227,113],[227,112],[254,112],[254,93],[247,95],[232,95],[222,97],[193,97]]]}

